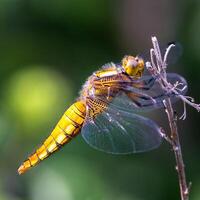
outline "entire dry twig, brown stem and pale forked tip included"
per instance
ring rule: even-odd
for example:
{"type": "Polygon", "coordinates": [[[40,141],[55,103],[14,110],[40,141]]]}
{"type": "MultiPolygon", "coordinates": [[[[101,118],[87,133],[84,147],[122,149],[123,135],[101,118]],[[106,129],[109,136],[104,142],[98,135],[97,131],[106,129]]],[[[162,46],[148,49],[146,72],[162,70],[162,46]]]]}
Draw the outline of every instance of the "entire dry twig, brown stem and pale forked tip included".
{"type": "MultiPolygon", "coordinates": [[[[175,94],[179,99],[183,101],[184,104],[184,113],[181,116],[183,119],[186,118],[186,104],[192,106],[197,111],[200,111],[200,104],[194,103],[193,98],[189,96],[184,96],[181,94],[186,88],[187,85],[181,82],[176,82],[175,84],[171,84],[167,80],[167,56],[169,51],[174,45],[170,45],[165,52],[164,59],[162,59],[161,51],[159,48],[159,44],[156,37],[152,37],[153,49],[150,50],[151,62],[147,62],[146,66],[149,69],[150,74],[153,77],[157,77],[157,82],[160,84],[160,87],[169,94],[175,94]],[[178,86],[183,86],[179,88],[178,86]]],[[[185,167],[183,162],[183,156],[181,151],[181,145],[179,141],[178,129],[177,129],[177,116],[174,114],[174,110],[172,107],[171,99],[168,97],[163,101],[165,105],[165,111],[167,113],[169,126],[171,130],[170,138],[164,134],[164,138],[169,141],[169,143],[173,147],[175,159],[176,159],[176,170],[178,173],[179,187],[181,200],[189,200],[189,187],[186,182],[185,176],[185,167]]]]}

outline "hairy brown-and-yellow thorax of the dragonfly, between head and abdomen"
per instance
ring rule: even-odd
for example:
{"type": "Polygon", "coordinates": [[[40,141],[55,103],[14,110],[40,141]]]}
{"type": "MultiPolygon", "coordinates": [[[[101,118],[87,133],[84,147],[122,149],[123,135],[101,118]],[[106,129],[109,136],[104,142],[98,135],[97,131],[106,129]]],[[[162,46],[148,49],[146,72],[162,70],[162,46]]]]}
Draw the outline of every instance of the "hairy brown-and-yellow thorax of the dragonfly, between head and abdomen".
{"type": "Polygon", "coordinates": [[[94,118],[103,112],[120,90],[122,73],[115,66],[94,72],[83,85],[80,100],[90,109],[94,118]]]}

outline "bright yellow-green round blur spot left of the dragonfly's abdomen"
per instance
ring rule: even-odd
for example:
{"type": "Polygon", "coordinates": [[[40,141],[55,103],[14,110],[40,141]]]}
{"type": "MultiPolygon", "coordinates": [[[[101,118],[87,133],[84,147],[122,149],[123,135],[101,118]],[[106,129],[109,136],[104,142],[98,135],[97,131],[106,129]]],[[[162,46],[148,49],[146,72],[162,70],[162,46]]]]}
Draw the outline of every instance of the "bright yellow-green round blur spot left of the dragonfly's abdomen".
{"type": "Polygon", "coordinates": [[[70,80],[61,74],[42,66],[32,66],[18,71],[8,81],[6,107],[16,123],[34,129],[55,119],[64,105],[69,106],[72,91],[70,80]]]}

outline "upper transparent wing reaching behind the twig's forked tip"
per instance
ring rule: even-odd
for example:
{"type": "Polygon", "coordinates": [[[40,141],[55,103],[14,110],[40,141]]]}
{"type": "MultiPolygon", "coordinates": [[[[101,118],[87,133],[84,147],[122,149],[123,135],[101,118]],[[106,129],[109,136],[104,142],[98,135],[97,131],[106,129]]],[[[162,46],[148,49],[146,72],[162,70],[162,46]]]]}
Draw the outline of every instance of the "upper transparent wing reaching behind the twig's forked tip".
{"type": "MultiPolygon", "coordinates": [[[[175,84],[177,81],[182,83],[180,89],[184,87],[184,90],[180,91],[180,94],[184,95],[187,92],[187,82],[182,76],[175,73],[168,73],[167,79],[171,84],[175,84]]],[[[137,81],[138,88],[135,83],[133,83],[133,86],[130,85],[130,83],[124,84],[121,88],[121,92],[115,96],[112,102],[110,102],[110,105],[115,109],[124,111],[132,110],[134,112],[144,112],[164,107],[163,100],[165,98],[170,97],[172,103],[179,100],[177,95],[164,91],[159,83],[152,79],[152,76],[144,76],[137,81]],[[153,81],[153,83],[150,83],[151,81],[153,81]],[[149,84],[145,86],[144,82],[149,82],[149,84]],[[142,84],[144,85],[143,88],[142,84]]],[[[104,101],[106,101],[105,98],[104,101]]]]}

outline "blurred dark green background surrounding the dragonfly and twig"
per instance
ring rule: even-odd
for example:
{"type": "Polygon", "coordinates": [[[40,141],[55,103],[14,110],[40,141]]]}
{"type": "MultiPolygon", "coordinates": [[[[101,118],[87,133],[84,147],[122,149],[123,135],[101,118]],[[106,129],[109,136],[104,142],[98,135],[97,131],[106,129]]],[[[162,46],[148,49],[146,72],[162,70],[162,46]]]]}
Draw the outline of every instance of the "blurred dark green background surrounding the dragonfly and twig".
{"type": "MultiPolygon", "coordinates": [[[[23,176],[17,168],[73,103],[86,78],[125,54],[179,41],[170,68],[200,102],[200,1],[0,0],[0,200],[179,199],[174,155],[160,148],[113,156],[78,136],[23,176]]],[[[165,113],[160,116],[166,124],[165,113]]],[[[199,114],[179,132],[191,199],[200,199],[199,114]]]]}

